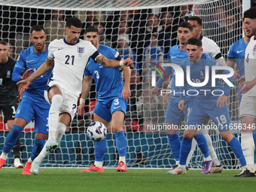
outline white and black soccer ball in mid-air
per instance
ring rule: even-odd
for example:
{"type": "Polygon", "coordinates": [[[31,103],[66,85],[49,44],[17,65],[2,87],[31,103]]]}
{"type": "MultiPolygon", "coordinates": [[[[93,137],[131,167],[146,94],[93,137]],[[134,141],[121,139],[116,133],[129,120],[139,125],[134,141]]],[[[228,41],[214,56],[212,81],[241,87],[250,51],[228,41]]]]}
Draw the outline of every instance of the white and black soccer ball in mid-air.
{"type": "Polygon", "coordinates": [[[90,139],[93,140],[93,142],[102,141],[103,139],[105,139],[106,134],[107,128],[103,123],[100,123],[98,121],[90,123],[87,128],[87,136],[89,136],[90,139]]]}

